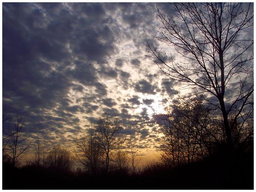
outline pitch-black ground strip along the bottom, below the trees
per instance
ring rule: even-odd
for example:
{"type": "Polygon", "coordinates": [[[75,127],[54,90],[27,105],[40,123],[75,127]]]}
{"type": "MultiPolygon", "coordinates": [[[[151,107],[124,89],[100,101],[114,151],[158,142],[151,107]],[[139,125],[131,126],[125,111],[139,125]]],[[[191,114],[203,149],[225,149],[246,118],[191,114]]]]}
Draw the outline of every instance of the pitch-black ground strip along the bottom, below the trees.
{"type": "Polygon", "coordinates": [[[218,155],[175,169],[149,166],[139,175],[90,176],[3,165],[3,189],[253,189],[253,153],[228,159],[218,155]]]}

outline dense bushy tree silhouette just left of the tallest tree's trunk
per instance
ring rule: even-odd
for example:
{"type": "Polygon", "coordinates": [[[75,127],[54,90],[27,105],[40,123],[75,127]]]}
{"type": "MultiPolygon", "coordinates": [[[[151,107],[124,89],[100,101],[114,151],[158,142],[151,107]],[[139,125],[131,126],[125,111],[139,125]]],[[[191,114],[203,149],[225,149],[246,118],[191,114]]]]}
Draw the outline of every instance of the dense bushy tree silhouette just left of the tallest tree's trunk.
{"type": "Polygon", "coordinates": [[[159,141],[163,152],[161,160],[175,166],[208,157],[214,146],[223,142],[220,116],[202,103],[201,97],[190,100],[174,100],[163,114],[158,114],[160,132],[164,135],[159,141]]]}

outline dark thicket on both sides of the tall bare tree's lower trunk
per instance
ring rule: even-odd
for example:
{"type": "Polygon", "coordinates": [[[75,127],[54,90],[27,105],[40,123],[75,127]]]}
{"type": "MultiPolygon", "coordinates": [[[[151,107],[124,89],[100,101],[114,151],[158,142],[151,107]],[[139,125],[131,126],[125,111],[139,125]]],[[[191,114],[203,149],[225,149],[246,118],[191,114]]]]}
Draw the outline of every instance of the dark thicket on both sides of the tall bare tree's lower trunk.
{"type": "Polygon", "coordinates": [[[235,151],[250,151],[253,147],[253,117],[247,121],[236,120],[230,113],[232,149],[226,142],[226,131],[221,112],[204,103],[205,96],[175,99],[156,115],[161,137],[160,160],[166,166],[189,164],[215,153],[225,152],[232,155],[235,151]]]}

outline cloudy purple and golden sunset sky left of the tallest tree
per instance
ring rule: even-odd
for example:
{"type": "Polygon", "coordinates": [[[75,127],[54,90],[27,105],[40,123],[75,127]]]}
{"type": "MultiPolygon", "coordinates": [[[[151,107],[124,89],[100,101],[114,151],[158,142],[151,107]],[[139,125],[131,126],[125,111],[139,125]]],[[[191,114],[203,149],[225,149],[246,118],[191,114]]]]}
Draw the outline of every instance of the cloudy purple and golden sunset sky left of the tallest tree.
{"type": "Polygon", "coordinates": [[[154,114],[179,89],[145,55],[160,45],[155,8],[168,6],[3,3],[3,107],[24,115],[29,140],[67,149],[98,115],[117,115],[121,135],[137,135],[144,160],[155,158],[154,114]]]}

